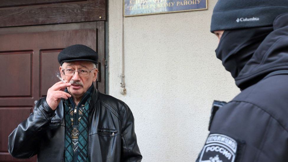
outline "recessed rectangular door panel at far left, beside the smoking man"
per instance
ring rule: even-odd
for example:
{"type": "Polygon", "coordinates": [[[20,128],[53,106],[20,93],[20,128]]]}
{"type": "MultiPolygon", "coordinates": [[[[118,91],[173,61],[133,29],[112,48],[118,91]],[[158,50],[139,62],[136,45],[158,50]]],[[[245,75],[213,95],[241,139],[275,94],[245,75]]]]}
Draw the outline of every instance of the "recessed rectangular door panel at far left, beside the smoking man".
{"type": "Polygon", "coordinates": [[[0,53],[1,97],[32,97],[32,51],[0,53]]]}

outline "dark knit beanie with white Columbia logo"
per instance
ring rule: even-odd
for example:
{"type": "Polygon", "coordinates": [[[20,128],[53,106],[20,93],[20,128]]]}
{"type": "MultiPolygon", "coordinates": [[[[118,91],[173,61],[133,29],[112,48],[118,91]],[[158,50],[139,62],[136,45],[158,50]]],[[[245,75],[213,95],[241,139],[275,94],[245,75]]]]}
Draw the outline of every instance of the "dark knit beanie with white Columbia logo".
{"type": "Polygon", "coordinates": [[[218,0],[210,31],[271,26],[286,12],[288,0],[218,0]]]}

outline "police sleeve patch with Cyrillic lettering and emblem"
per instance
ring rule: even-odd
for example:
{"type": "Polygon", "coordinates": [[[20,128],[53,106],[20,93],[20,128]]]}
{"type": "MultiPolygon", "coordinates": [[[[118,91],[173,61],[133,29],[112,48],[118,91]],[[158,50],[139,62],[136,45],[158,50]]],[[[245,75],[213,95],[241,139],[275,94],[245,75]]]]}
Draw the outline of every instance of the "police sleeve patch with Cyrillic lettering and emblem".
{"type": "Polygon", "coordinates": [[[201,152],[199,162],[234,162],[237,142],[226,135],[210,134],[201,152]]]}

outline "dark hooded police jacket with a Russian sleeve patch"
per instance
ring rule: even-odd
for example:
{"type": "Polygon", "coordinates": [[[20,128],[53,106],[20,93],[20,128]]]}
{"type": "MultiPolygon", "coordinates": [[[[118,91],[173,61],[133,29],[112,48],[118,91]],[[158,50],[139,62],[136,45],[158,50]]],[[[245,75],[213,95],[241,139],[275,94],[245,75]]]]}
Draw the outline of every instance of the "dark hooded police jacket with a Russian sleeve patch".
{"type": "Polygon", "coordinates": [[[196,161],[288,161],[288,13],[275,19],[235,81],[242,91],[214,105],[196,161]]]}

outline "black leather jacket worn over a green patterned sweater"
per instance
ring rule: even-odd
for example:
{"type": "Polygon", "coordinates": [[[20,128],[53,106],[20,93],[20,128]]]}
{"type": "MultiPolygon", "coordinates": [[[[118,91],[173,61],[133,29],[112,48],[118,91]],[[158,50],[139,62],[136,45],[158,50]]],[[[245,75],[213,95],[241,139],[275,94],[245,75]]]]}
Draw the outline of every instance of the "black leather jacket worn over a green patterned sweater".
{"type": "MultiPolygon", "coordinates": [[[[28,119],[9,135],[9,153],[15,158],[37,154],[40,162],[64,161],[64,137],[64,102],[54,112],[43,98],[28,119]]],[[[97,89],[93,89],[90,101],[88,156],[91,162],[142,159],[131,110],[124,102],[97,89]]]]}

